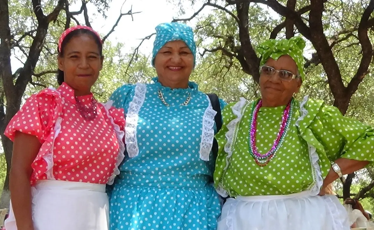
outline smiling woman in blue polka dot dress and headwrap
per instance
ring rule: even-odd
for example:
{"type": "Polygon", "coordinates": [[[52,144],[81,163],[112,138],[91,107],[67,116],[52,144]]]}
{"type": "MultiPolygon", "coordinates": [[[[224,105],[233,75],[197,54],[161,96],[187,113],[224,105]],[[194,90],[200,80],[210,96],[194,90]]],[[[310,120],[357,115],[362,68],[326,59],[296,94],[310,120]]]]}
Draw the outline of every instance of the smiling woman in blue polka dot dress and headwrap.
{"type": "Polygon", "coordinates": [[[173,22],[156,32],[154,83],[123,85],[111,96],[126,111],[127,154],[110,192],[110,227],[215,230],[221,212],[211,184],[216,111],[188,81],[193,31],[173,22]]]}

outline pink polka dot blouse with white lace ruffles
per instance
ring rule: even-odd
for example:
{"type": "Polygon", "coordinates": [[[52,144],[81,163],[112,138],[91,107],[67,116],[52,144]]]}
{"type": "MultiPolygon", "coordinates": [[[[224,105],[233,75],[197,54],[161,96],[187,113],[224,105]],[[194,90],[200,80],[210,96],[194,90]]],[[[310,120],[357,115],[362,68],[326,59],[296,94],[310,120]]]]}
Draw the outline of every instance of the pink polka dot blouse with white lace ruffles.
{"type": "MultiPolygon", "coordinates": [[[[91,106],[93,95],[77,97],[91,106]]],[[[124,158],[123,109],[97,103],[97,116],[80,115],[74,90],[63,83],[32,95],[9,122],[5,135],[16,131],[36,136],[42,147],[32,168],[31,184],[40,179],[112,184],[124,158]]]]}

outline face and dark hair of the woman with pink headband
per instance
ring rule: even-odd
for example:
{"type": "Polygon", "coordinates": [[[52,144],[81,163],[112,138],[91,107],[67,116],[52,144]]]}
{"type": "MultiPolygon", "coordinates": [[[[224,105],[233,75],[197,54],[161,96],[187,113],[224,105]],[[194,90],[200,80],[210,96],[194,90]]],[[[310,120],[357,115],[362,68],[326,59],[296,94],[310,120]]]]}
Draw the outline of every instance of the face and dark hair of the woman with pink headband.
{"type": "Polygon", "coordinates": [[[76,94],[89,94],[102,69],[103,57],[97,41],[91,34],[78,34],[62,49],[58,68],[64,72],[64,81],[76,94]]]}

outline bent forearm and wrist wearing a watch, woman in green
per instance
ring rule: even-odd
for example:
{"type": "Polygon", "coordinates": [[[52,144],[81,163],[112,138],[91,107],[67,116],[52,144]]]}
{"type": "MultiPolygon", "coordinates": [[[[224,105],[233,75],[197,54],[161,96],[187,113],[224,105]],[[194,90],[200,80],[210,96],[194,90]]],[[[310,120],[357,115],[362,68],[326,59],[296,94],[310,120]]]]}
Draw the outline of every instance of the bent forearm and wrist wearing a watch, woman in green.
{"type": "MultiPolygon", "coordinates": [[[[364,168],[369,164],[369,161],[358,161],[347,158],[338,158],[337,160],[335,160],[335,163],[337,163],[340,167],[341,173],[343,175],[346,175],[364,168]]],[[[326,178],[324,179],[324,185],[328,185],[338,178],[338,174],[331,167],[326,178]]]]}

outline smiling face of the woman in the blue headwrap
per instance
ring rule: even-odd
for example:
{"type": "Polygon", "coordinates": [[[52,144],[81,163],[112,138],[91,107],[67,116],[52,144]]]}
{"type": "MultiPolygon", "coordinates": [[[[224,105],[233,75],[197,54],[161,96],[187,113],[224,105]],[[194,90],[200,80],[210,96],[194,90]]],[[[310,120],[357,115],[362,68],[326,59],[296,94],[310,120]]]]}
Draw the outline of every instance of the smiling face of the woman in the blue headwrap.
{"type": "Polygon", "coordinates": [[[173,82],[174,85],[181,82],[187,87],[193,64],[190,48],[180,40],[166,43],[154,58],[154,68],[163,85],[168,85],[166,82],[173,82]]]}

